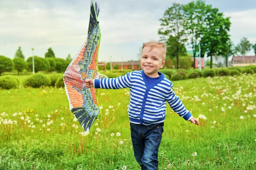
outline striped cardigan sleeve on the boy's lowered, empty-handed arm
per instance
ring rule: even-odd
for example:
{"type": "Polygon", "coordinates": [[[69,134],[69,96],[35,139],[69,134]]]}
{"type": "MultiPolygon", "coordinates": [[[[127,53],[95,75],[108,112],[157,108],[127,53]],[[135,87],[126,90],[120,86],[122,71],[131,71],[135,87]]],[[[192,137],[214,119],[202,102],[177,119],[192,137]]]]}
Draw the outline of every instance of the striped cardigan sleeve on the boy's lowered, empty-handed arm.
{"type": "Polygon", "coordinates": [[[171,84],[166,101],[169,103],[172,110],[175,111],[175,113],[177,113],[180,117],[183,117],[185,120],[190,120],[193,116],[188,110],[186,110],[179,97],[176,96],[175,92],[172,90],[172,87],[173,85],[171,84]]]}

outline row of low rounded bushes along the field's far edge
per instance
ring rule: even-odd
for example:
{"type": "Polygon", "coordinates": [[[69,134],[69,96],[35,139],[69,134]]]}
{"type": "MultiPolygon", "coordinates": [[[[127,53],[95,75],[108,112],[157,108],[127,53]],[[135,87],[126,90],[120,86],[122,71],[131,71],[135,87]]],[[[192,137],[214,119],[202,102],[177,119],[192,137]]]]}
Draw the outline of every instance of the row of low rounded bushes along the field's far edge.
{"type": "MultiPolygon", "coordinates": [[[[105,73],[108,78],[116,78],[124,76],[128,70],[122,73],[105,73]]],[[[182,79],[195,79],[199,77],[214,77],[214,76],[234,76],[241,73],[253,74],[256,73],[256,66],[248,66],[244,68],[230,67],[230,68],[216,68],[216,69],[204,69],[199,70],[173,70],[173,69],[162,69],[160,70],[168,79],[172,81],[182,79]]],[[[0,77],[0,88],[11,89],[17,88],[20,82],[19,79],[12,75],[6,75],[0,77]]],[[[45,75],[41,73],[33,74],[28,77],[23,85],[25,87],[39,88],[42,86],[56,86],[64,87],[63,77],[61,74],[45,75]]]]}

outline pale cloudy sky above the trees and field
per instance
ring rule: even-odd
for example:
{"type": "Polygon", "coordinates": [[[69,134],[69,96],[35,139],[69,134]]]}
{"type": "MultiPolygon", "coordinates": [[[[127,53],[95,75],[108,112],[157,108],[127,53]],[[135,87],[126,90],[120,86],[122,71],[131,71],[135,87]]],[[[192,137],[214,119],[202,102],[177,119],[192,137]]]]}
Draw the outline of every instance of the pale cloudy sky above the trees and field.
{"type": "MultiPolygon", "coordinates": [[[[159,40],[159,19],[172,3],[191,0],[97,0],[102,33],[99,61],[138,59],[143,42],[159,40]]],[[[256,43],[255,0],[205,0],[231,17],[231,40],[256,43]]],[[[0,55],[14,58],[21,46],[26,58],[44,57],[49,47],[56,57],[75,56],[86,40],[90,0],[0,0],[0,55]]],[[[253,55],[253,51],[247,53],[253,55]]]]}

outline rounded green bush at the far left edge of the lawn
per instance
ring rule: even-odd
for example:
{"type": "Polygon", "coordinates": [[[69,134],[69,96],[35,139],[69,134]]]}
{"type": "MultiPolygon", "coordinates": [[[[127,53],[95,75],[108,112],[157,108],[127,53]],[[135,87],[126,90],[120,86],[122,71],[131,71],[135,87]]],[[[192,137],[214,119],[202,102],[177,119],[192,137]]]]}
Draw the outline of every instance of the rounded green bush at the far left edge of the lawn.
{"type": "Polygon", "coordinates": [[[0,77],[0,88],[2,89],[17,88],[18,85],[19,81],[15,76],[6,75],[0,77]]]}

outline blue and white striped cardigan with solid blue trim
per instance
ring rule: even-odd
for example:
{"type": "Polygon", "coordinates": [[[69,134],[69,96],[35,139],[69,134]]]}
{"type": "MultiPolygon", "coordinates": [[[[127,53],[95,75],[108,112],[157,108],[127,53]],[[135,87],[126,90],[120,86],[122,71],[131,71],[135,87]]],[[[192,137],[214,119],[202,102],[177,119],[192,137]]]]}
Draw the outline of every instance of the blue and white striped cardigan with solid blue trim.
{"type": "Polygon", "coordinates": [[[172,91],[172,82],[164,74],[148,85],[144,71],[132,71],[112,79],[94,79],[94,88],[130,88],[128,115],[131,123],[151,125],[160,123],[166,117],[166,101],[173,111],[185,120],[192,118],[179,97],[172,91]]]}

